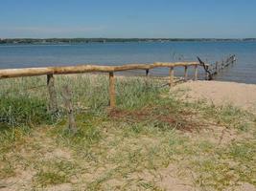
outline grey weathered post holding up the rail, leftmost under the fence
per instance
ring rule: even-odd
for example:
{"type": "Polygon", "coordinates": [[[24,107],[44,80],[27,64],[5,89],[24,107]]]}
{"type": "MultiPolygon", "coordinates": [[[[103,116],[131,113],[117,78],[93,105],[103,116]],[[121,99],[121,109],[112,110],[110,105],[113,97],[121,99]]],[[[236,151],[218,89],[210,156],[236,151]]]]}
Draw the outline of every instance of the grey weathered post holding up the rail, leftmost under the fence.
{"type": "Polygon", "coordinates": [[[55,89],[55,78],[54,74],[47,74],[47,88],[49,92],[50,102],[49,102],[49,112],[53,116],[58,115],[58,103],[57,103],[57,93],[55,89]]]}

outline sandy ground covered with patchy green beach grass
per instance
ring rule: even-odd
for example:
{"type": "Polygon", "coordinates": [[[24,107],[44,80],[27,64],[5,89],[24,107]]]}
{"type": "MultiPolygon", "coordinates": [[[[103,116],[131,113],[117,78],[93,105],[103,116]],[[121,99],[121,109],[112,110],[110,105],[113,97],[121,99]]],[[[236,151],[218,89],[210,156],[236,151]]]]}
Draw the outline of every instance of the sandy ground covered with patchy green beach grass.
{"type": "Polygon", "coordinates": [[[255,116],[232,105],[181,100],[161,83],[146,77],[117,77],[117,108],[109,110],[107,75],[57,76],[59,117],[53,118],[47,112],[46,77],[0,80],[0,187],[256,186],[255,116]],[[76,135],[66,131],[61,91],[67,84],[72,90],[76,135]]]}

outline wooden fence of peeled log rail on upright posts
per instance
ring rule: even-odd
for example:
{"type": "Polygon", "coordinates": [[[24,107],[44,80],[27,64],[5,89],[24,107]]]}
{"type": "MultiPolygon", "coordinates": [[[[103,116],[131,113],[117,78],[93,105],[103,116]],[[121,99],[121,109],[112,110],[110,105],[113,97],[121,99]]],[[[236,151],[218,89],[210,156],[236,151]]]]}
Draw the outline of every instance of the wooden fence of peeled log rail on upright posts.
{"type": "Polygon", "coordinates": [[[25,68],[25,69],[6,69],[0,70],[0,79],[22,77],[22,76],[36,76],[47,75],[47,86],[50,95],[50,110],[57,111],[57,93],[55,90],[55,74],[82,74],[82,73],[108,73],[109,74],[109,102],[110,108],[116,105],[115,97],[115,72],[129,71],[129,70],[145,70],[146,75],[149,75],[151,69],[154,68],[169,68],[169,84],[172,86],[175,82],[175,67],[184,67],[184,80],[188,79],[188,68],[194,67],[194,80],[198,79],[199,62],[155,62],[152,64],[128,64],[123,66],[97,66],[97,65],[79,65],[66,67],[46,67],[46,68],[25,68]]]}

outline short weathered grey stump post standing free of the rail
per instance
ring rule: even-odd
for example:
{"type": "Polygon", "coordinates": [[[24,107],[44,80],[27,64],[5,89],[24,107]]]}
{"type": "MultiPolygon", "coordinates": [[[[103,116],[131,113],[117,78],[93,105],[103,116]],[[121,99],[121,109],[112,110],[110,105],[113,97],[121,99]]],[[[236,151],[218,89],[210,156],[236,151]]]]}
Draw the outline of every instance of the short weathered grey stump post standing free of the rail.
{"type": "Polygon", "coordinates": [[[72,98],[71,98],[72,95],[67,85],[63,87],[62,96],[64,99],[64,105],[66,107],[67,115],[68,115],[68,131],[72,134],[76,134],[78,132],[78,128],[77,128],[75,116],[74,116],[74,110],[73,110],[72,98]]]}

